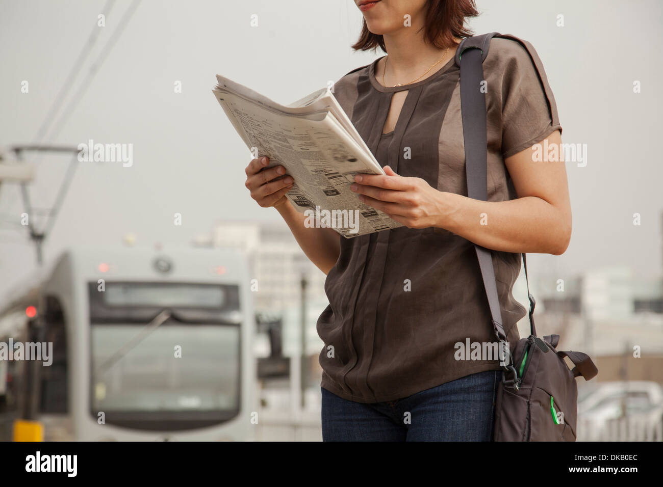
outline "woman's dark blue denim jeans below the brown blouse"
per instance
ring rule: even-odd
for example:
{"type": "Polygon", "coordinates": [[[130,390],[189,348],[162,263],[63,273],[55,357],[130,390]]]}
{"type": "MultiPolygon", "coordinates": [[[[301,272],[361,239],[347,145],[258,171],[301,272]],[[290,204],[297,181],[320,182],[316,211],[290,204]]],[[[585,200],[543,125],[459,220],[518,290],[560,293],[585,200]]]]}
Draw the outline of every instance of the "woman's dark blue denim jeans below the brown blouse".
{"type": "Polygon", "coordinates": [[[363,404],[322,388],[322,441],[491,441],[501,370],[395,401],[363,404]]]}

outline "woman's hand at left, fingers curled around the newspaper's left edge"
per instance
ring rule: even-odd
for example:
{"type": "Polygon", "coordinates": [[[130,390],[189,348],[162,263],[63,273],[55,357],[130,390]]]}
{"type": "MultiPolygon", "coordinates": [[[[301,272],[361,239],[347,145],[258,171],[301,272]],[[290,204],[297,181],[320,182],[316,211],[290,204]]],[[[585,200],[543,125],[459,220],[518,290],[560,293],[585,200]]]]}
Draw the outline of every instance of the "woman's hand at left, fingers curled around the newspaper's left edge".
{"type": "Polygon", "coordinates": [[[246,168],[247,182],[244,186],[249,188],[251,197],[261,207],[273,206],[276,208],[288,201],[286,193],[292,188],[292,177],[285,176],[286,168],[283,166],[263,170],[268,164],[269,158],[267,157],[252,159],[246,168]]]}

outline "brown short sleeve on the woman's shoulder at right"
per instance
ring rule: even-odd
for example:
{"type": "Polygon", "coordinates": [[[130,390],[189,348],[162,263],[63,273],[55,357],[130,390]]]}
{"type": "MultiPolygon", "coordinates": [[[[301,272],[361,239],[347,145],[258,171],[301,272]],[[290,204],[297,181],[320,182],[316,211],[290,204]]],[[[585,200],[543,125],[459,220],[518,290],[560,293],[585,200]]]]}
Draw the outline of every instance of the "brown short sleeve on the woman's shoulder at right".
{"type": "MultiPolygon", "coordinates": [[[[546,138],[562,132],[557,106],[543,64],[526,41],[496,38],[503,52],[502,154],[517,154],[546,138]]],[[[493,46],[491,45],[491,50],[493,46]]]]}

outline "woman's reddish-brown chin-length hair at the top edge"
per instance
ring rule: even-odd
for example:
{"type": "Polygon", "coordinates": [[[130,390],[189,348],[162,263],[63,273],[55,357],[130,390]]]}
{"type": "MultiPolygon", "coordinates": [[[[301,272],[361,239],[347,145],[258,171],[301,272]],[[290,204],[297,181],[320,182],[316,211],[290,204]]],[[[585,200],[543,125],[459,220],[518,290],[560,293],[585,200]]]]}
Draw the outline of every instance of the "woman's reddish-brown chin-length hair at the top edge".
{"type": "MultiPolygon", "coordinates": [[[[474,0],[428,0],[424,29],[427,40],[437,48],[445,48],[455,43],[454,37],[469,37],[472,31],[465,28],[466,17],[477,17],[479,12],[474,0]]],[[[373,34],[366,26],[366,19],[361,23],[359,40],[353,44],[354,50],[377,49],[387,52],[385,40],[381,34],[373,34]]]]}

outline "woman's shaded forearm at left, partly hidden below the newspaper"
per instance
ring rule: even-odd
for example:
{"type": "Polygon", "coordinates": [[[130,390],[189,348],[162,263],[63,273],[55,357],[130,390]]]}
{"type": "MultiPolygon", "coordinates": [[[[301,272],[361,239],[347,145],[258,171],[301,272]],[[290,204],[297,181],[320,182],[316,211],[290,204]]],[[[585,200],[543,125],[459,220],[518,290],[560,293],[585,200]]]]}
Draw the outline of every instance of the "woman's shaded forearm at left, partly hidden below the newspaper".
{"type": "Polygon", "coordinates": [[[286,201],[276,210],[290,227],[304,254],[325,274],[330,272],[341,253],[341,236],[330,228],[307,228],[306,217],[286,201]]]}

